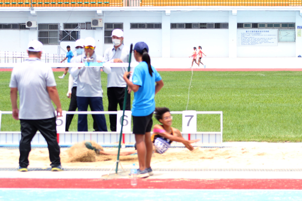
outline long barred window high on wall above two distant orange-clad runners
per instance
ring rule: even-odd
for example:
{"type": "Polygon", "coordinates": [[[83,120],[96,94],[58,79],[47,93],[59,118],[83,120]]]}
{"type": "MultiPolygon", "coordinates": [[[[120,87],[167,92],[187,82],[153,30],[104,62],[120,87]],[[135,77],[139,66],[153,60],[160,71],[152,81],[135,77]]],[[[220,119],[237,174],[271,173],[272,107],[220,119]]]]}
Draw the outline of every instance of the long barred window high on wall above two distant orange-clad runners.
{"type": "Polygon", "coordinates": [[[171,23],[171,29],[228,29],[229,23],[171,23]]]}

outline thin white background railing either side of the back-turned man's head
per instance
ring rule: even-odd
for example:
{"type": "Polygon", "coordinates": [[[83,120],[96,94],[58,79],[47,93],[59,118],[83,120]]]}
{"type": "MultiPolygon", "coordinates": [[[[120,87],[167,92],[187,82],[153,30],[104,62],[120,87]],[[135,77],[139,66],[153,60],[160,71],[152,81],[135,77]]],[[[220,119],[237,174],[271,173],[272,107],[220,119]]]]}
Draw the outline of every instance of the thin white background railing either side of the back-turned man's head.
{"type": "MultiPolygon", "coordinates": [[[[27,52],[6,52],[0,51],[0,63],[22,63],[28,58],[27,52]]],[[[41,61],[45,63],[59,63],[65,55],[43,54],[41,61]]]]}

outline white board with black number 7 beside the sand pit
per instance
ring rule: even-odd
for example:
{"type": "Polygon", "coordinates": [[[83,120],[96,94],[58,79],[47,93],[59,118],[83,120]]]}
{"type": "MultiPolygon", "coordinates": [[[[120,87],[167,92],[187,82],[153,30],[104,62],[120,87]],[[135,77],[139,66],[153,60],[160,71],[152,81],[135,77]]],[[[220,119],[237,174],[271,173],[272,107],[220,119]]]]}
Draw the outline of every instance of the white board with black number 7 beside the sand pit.
{"type": "Polygon", "coordinates": [[[182,111],[182,132],[195,133],[197,130],[197,113],[195,110],[182,111]]]}

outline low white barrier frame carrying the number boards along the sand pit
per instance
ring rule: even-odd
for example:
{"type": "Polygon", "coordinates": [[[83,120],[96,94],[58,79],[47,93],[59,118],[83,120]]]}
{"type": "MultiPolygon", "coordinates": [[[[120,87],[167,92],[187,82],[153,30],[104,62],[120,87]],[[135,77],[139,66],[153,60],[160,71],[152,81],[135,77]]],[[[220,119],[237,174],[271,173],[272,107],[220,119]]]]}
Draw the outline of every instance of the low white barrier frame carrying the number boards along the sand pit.
{"type": "MultiPolygon", "coordinates": [[[[65,111],[64,111],[65,112],[65,111]]],[[[182,111],[171,111],[171,114],[182,114],[182,111]]],[[[0,111],[0,126],[2,114],[12,114],[12,111],[0,111]]],[[[117,111],[66,111],[66,114],[117,114],[117,111]]],[[[222,143],[223,133],[223,113],[222,111],[196,111],[196,114],[216,114],[220,115],[220,131],[217,132],[182,132],[185,139],[190,136],[191,140],[201,139],[198,143],[222,143]]],[[[124,143],[134,143],[132,132],[123,132],[124,143]]],[[[99,144],[115,144],[119,140],[120,132],[60,132],[60,145],[72,145],[84,140],[94,140],[99,144]]],[[[21,140],[20,131],[0,131],[0,145],[15,144],[21,140]]],[[[32,144],[47,145],[42,135],[37,132],[32,144]]]]}

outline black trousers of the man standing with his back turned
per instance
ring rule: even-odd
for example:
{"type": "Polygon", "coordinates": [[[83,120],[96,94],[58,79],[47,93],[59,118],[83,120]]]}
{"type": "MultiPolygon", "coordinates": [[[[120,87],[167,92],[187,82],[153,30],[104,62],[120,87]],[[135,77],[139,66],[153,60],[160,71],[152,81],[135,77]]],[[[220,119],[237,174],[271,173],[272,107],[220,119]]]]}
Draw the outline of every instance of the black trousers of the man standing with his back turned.
{"type": "Polygon", "coordinates": [[[42,136],[45,138],[48,151],[50,166],[52,168],[61,165],[60,162],[60,147],[57,142],[57,133],[56,133],[56,117],[49,119],[20,119],[21,124],[21,140],[20,140],[20,158],[19,165],[21,168],[26,168],[29,165],[28,155],[31,151],[31,140],[37,133],[37,130],[40,131],[42,136]]]}

